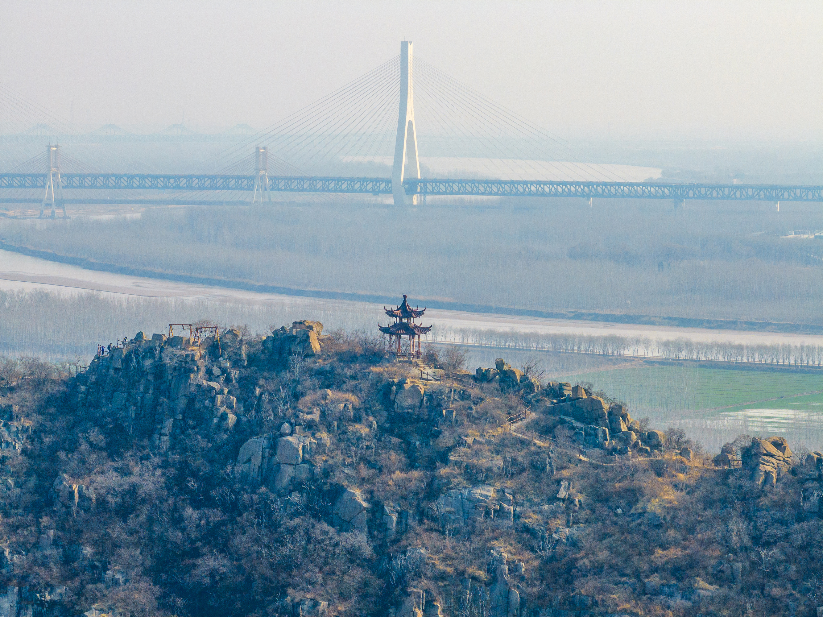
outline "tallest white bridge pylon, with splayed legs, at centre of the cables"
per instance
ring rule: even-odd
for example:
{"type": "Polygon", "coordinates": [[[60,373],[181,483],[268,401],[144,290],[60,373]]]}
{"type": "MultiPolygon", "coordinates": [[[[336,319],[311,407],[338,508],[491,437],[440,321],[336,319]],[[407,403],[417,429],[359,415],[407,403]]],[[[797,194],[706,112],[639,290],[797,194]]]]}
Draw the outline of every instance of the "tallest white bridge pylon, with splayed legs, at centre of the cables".
{"type": "Polygon", "coordinates": [[[412,87],[412,41],[400,42],[400,113],[398,137],[394,142],[392,193],[395,206],[417,203],[416,195],[407,195],[403,179],[420,178],[417,158],[417,132],[414,125],[414,88],[412,87]]]}

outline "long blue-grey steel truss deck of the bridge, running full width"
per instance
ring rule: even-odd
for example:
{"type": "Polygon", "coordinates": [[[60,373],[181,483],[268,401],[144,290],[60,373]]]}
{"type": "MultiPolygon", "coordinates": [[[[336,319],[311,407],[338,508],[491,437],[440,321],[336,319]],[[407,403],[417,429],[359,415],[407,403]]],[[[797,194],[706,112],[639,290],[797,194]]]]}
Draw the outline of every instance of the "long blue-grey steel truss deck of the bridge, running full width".
{"type": "MultiPolygon", "coordinates": [[[[219,174],[61,174],[63,189],[130,189],[147,191],[253,191],[258,176],[219,174]]],[[[315,176],[268,176],[268,190],[277,193],[351,193],[391,195],[392,179],[315,176]]],[[[41,188],[49,174],[0,174],[0,188],[41,188]]],[[[582,197],[622,199],[739,200],[823,202],[823,187],[784,184],[696,184],[644,182],[570,182],[553,180],[405,179],[404,193],[468,197],[582,197]]],[[[0,202],[40,202],[3,198],[0,202]]],[[[64,199],[64,202],[141,202],[106,198],[64,199]]],[[[164,200],[169,202],[168,198],[164,200]]],[[[201,200],[208,202],[209,200],[201,200]]],[[[213,200],[220,202],[220,200],[213,200]]]]}

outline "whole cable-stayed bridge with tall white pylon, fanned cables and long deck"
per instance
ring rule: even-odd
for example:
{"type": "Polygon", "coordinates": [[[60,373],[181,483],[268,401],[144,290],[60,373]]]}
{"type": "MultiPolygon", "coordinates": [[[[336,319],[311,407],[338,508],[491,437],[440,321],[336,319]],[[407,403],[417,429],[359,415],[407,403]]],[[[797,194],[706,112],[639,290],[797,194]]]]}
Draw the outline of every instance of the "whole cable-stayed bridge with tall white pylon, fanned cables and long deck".
{"type": "MultiPolygon", "coordinates": [[[[41,216],[49,207],[65,215],[66,204],[262,203],[276,193],[390,197],[395,205],[429,196],[823,202],[820,186],[637,181],[634,170],[594,163],[429,63],[413,62],[409,42],[398,57],[263,131],[231,129],[234,143],[195,173],[145,169],[128,151],[82,151],[94,136],[11,90],[0,88],[0,109],[0,125],[34,123],[0,136],[0,203],[40,203],[41,216]],[[63,145],[26,158],[33,136],[63,145]],[[431,161],[453,169],[427,169],[431,161]]],[[[165,137],[198,142],[175,127],[165,137]]],[[[96,135],[140,141],[114,125],[96,135]]]]}

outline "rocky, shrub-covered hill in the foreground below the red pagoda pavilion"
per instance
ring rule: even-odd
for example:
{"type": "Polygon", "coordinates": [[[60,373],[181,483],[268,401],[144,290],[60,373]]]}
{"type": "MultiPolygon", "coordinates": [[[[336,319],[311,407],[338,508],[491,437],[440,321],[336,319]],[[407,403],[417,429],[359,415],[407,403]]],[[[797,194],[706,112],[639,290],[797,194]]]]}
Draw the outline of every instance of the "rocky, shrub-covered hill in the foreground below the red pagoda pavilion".
{"type": "Polygon", "coordinates": [[[294,322],[0,381],[0,617],[817,615],[823,457],[294,322]],[[448,369],[448,370],[446,370],[448,369]]]}

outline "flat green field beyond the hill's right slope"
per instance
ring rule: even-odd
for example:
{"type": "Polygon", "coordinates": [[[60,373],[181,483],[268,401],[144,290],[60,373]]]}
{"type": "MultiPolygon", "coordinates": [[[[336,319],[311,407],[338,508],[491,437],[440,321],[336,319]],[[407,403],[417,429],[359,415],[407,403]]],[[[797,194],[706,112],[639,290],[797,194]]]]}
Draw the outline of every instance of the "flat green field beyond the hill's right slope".
{"type": "Polygon", "coordinates": [[[823,374],[639,365],[562,380],[591,382],[628,403],[633,416],[682,426],[709,448],[737,434],[779,434],[823,447],[823,374]],[[795,396],[804,392],[818,393],[795,396]]]}

